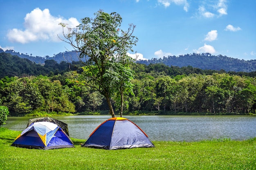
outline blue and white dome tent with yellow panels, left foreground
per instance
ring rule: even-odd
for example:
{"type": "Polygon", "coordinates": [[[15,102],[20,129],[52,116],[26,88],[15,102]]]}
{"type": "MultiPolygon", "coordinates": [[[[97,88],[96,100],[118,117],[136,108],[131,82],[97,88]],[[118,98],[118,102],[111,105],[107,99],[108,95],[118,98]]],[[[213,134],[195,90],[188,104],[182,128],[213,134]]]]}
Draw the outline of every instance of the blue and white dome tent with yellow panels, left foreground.
{"type": "Polygon", "coordinates": [[[74,147],[61,127],[47,121],[32,123],[16,137],[11,146],[43,150],[74,147]]]}

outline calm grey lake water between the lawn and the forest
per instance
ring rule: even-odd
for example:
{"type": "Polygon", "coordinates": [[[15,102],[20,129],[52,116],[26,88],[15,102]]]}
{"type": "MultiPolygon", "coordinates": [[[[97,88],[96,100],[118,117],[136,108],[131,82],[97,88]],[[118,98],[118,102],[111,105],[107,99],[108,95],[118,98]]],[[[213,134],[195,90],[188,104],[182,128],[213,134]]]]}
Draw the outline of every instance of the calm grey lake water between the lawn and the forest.
{"type": "MultiPolygon", "coordinates": [[[[131,116],[125,118],[137,124],[151,141],[202,141],[230,138],[245,140],[256,137],[255,116],[131,116]]],[[[3,127],[22,131],[29,119],[8,117],[3,127]]],[[[89,135],[110,115],[77,115],[54,117],[68,124],[70,137],[88,139],[89,135]]]]}

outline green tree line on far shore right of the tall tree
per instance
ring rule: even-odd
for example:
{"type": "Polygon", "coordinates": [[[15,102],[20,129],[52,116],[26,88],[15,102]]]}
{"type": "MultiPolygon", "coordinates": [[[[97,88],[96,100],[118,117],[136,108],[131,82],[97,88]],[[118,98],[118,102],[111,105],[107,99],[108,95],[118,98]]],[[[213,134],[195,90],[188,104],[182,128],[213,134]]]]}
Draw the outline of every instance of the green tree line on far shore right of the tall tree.
{"type": "Polygon", "coordinates": [[[135,110],[184,113],[255,113],[255,78],[227,73],[159,76],[135,82],[137,91],[131,107],[135,110]]]}

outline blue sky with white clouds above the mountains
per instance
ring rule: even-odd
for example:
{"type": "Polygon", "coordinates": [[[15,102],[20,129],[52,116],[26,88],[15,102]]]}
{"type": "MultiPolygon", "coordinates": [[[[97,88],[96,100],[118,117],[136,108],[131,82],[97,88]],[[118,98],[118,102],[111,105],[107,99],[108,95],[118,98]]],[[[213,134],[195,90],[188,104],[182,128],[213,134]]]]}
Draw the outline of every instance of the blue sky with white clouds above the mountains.
{"type": "MultiPolygon", "coordinates": [[[[256,0],[0,0],[0,48],[52,57],[72,50],[59,22],[117,12],[136,25],[139,59],[211,53],[256,60],[256,0]]],[[[129,52],[130,55],[134,53],[129,52]]]]}

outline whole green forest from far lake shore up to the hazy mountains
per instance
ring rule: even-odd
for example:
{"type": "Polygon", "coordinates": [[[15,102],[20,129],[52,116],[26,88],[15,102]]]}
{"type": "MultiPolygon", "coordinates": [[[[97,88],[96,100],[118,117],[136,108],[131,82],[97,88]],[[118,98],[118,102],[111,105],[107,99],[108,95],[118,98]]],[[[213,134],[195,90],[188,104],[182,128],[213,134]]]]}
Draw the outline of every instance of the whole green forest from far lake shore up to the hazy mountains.
{"type": "MultiPolygon", "coordinates": [[[[77,63],[46,60],[40,65],[7,53],[0,55],[0,105],[7,106],[11,116],[108,114],[102,95],[74,81],[77,63]]],[[[133,94],[125,96],[124,114],[255,113],[255,72],[139,63],[130,68],[133,94]]],[[[117,101],[113,98],[112,102],[117,101]]],[[[114,108],[118,114],[120,108],[114,108]]]]}

